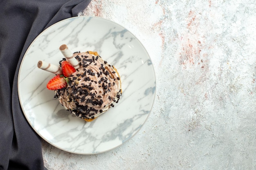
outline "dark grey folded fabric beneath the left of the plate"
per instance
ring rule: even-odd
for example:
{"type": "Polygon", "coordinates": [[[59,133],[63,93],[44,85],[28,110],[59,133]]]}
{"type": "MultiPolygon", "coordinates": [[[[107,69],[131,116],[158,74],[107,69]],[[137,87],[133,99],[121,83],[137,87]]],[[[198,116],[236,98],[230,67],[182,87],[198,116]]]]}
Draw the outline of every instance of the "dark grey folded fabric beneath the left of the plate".
{"type": "Polygon", "coordinates": [[[41,138],[18,99],[18,70],[31,42],[52,24],[84,10],[90,0],[0,1],[0,170],[43,170],[41,138]]]}

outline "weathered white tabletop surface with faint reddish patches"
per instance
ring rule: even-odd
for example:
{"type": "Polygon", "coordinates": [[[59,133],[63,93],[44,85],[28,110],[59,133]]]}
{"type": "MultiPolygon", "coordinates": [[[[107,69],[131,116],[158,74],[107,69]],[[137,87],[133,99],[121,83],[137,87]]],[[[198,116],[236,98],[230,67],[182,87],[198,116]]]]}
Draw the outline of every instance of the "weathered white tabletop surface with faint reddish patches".
{"type": "Polygon", "coordinates": [[[256,4],[250,0],[92,0],[82,15],[126,27],[157,79],[146,124],[109,152],[43,141],[49,170],[256,169],[256,4]]]}

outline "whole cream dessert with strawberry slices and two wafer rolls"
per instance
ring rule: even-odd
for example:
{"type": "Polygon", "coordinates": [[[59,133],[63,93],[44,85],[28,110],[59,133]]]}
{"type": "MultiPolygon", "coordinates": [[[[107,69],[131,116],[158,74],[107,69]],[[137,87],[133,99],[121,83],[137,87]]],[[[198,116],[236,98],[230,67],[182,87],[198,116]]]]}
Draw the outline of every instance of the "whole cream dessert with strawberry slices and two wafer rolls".
{"type": "Polygon", "coordinates": [[[72,53],[65,44],[59,49],[65,57],[59,66],[38,61],[38,68],[56,74],[47,88],[55,91],[54,97],[66,110],[92,121],[119,102],[121,79],[114,66],[97,52],[72,53]]]}

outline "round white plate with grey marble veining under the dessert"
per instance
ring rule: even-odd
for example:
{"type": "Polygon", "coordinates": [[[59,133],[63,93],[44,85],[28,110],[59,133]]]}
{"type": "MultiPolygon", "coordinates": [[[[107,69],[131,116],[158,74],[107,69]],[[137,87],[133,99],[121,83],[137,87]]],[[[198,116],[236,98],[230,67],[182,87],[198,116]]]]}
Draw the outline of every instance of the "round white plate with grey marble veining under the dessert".
{"type": "Polygon", "coordinates": [[[144,46],[127,29],[98,17],[62,20],[43,31],[23,57],[18,75],[20,105],[31,127],[45,141],[67,152],[96,154],[133,137],[145,123],[155,99],[155,73],[144,46]],[[37,68],[38,60],[58,65],[58,50],[97,51],[120,73],[118,104],[92,122],[66,111],[46,88],[54,74],[37,68]]]}

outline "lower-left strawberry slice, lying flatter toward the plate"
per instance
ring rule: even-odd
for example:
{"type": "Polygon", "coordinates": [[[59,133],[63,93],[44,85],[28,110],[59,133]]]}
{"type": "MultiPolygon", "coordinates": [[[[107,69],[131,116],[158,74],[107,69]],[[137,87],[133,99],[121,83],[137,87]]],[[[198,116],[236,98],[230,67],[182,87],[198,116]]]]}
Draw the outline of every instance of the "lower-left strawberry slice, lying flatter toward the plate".
{"type": "Polygon", "coordinates": [[[49,90],[57,90],[67,86],[67,82],[63,75],[56,75],[47,83],[46,87],[49,90]]]}

